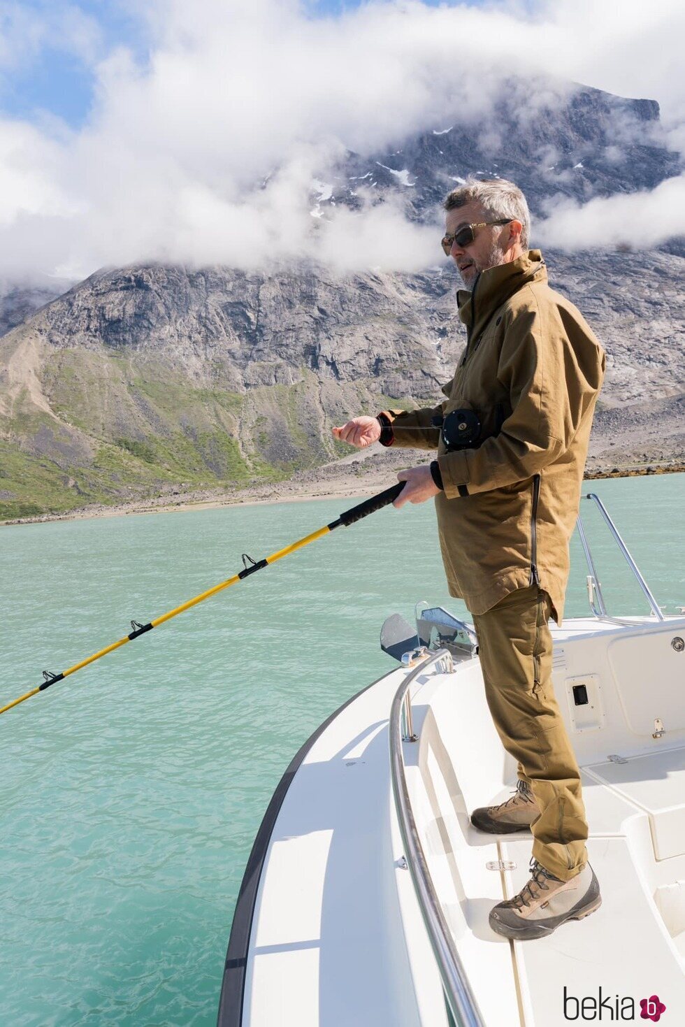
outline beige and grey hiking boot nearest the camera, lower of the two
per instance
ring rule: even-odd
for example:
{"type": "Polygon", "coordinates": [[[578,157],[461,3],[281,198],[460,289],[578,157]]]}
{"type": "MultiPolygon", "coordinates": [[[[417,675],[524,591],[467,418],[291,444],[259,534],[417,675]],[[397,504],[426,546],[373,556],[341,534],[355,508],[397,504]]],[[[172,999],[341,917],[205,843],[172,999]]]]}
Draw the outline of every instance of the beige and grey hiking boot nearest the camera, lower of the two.
{"type": "Polygon", "coordinates": [[[519,895],[490,910],[490,926],[517,941],[544,938],[567,920],[582,920],[602,905],[600,885],[588,863],[570,881],[560,881],[530,861],[531,879],[519,895]]]}

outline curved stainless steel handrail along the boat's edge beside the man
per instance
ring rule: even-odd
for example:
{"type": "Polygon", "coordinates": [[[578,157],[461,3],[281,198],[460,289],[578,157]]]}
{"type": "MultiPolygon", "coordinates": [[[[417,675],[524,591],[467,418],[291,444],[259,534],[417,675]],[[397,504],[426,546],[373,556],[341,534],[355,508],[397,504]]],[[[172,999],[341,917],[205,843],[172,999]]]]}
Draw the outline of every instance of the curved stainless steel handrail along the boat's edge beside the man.
{"type": "Polygon", "coordinates": [[[390,777],[392,779],[392,795],[399,824],[399,834],[405,848],[405,859],[412,877],[412,883],[418,900],[421,916],[428,934],[433,955],[437,963],[447,1004],[450,1009],[456,1027],[485,1027],[485,1021],[478,1007],[475,997],[464,968],[459,958],[452,931],[445,919],[435,886],[428,870],[423,846],[419,838],[416,821],[412,812],[412,804],[407,787],[405,759],[403,755],[403,728],[409,738],[405,743],[411,745],[414,739],[414,729],[411,719],[410,688],[419,677],[435,663],[444,660],[452,670],[452,656],[447,649],[439,649],[430,653],[418,663],[411,674],[408,674],[397,689],[390,710],[390,777]],[[409,696],[409,703],[407,701],[409,696]]]}

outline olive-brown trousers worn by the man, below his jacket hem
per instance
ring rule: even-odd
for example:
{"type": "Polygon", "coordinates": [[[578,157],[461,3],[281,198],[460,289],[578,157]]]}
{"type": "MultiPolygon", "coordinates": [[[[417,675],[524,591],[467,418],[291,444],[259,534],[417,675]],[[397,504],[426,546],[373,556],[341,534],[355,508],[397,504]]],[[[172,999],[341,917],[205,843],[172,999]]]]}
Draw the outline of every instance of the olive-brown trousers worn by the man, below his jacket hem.
{"type": "Polygon", "coordinates": [[[567,881],[587,860],[587,823],[578,764],[551,685],[550,614],[547,593],[531,585],[473,614],[473,624],[492,719],[540,809],[531,828],[533,857],[567,881]]]}

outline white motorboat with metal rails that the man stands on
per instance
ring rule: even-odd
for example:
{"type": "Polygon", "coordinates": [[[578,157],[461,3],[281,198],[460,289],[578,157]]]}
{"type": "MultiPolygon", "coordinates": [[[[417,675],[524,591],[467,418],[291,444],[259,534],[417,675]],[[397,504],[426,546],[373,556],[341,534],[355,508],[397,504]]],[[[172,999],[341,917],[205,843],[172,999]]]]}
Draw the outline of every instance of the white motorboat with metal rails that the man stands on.
{"type": "Polygon", "coordinates": [[[555,1027],[656,1022],[661,1005],[685,1023],[685,616],[662,613],[585,498],[651,608],[610,615],[579,520],[591,613],[551,625],[554,684],[601,908],[536,941],[491,930],[490,909],[528,880],[532,839],[469,823],[507,797],[516,765],[471,626],[420,606],[418,639],[397,617],[382,634],[395,656],[414,651],[314,732],[272,797],[219,1027],[555,1027]]]}

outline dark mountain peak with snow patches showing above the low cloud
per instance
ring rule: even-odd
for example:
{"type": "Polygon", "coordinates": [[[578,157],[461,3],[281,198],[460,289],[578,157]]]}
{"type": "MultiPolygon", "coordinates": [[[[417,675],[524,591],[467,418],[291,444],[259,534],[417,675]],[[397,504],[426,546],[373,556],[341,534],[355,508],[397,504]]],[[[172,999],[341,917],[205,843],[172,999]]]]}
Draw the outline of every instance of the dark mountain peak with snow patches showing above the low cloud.
{"type": "Polygon", "coordinates": [[[534,216],[557,196],[651,189],[682,161],[665,146],[658,104],[626,100],[545,79],[512,80],[482,116],[454,119],[391,152],[348,153],[335,175],[316,184],[314,211],[360,203],[360,191],[399,192],[410,217],[423,220],[467,175],[509,179],[534,216]]]}

